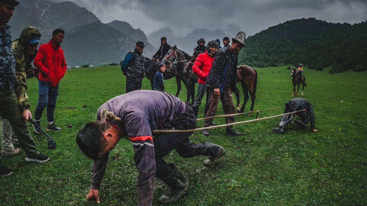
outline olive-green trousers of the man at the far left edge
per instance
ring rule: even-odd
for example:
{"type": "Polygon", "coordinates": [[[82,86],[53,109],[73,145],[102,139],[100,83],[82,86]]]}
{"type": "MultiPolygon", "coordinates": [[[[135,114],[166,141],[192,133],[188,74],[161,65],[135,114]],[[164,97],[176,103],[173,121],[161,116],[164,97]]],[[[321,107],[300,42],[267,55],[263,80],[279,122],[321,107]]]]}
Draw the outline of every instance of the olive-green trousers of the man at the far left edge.
{"type": "MultiPolygon", "coordinates": [[[[0,89],[0,115],[8,119],[15,135],[18,137],[21,148],[27,156],[34,157],[40,154],[36,148],[36,143],[29,132],[29,126],[19,110],[18,98],[14,89],[0,89]]],[[[3,162],[0,159],[0,166],[3,162]]]]}

